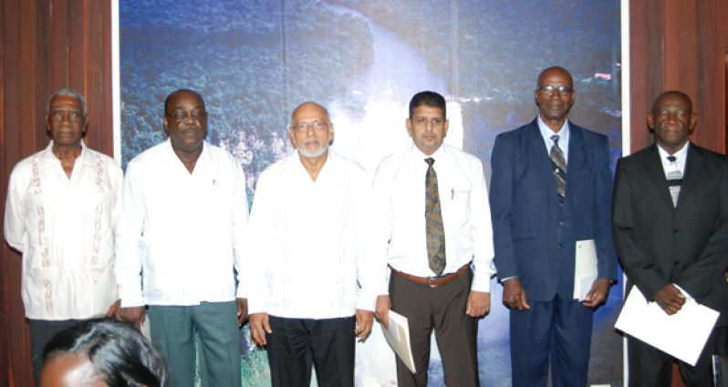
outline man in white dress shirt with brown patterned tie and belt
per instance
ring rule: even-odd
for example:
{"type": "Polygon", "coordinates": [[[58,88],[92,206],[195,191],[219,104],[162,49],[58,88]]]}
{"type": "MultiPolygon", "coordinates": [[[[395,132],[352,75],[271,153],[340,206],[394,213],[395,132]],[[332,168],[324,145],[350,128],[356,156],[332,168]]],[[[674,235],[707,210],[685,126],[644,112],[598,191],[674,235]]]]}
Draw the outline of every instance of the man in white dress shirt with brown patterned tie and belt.
{"type": "Polygon", "coordinates": [[[417,370],[412,374],[398,358],[400,386],[427,384],[433,329],[445,383],[479,385],[478,320],[490,310],[494,274],[490,207],[483,164],[442,143],[448,125],[442,95],[416,94],[406,121],[413,144],[384,159],[374,180],[389,220],[384,239],[390,240],[391,268],[377,318],[388,326],[390,308],[408,318],[417,370]],[[431,226],[432,211],[437,219],[431,226]]]}

